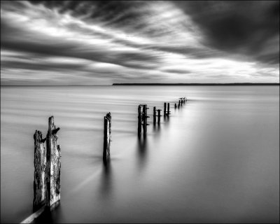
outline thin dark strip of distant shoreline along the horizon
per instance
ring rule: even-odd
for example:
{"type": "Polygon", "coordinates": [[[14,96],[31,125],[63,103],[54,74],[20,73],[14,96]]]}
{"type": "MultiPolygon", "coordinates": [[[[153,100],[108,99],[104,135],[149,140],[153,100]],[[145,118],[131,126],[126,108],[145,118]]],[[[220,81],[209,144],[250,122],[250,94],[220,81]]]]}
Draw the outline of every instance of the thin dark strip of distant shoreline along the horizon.
{"type": "Polygon", "coordinates": [[[279,83],[113,83],[113,85],[279,85],[279,83]]]}

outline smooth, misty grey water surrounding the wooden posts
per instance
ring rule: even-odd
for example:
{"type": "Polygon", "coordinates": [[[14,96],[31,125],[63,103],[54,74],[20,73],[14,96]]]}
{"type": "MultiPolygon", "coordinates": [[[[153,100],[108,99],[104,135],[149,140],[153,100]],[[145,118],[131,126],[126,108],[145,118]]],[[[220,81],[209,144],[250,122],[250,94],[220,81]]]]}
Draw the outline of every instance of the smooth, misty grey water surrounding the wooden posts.
{"type": "Polygon", "coordinates": [[[62,148],[55,223],[279,223],[279,86],[1,87],[1,223],[32,213],[33,134],[45,137],[52,115],[62,148]],[[153,127],[164,102],[172,114],[153,127]],[[145,142],[138,104],[150,108],[145,142]]]}

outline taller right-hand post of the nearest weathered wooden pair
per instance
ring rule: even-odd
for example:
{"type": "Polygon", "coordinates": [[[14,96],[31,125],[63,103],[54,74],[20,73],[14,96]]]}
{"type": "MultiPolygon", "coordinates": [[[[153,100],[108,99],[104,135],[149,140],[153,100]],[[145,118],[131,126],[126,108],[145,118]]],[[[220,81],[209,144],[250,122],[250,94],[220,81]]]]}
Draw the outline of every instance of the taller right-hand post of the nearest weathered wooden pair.
{"type": "Polygon", "coordinates": [[[47,162],[46,162],[46,206],[54,208],[60,200],[61,151],[57,145],[57,132],[53,116],[48,118],[47,162]]]}

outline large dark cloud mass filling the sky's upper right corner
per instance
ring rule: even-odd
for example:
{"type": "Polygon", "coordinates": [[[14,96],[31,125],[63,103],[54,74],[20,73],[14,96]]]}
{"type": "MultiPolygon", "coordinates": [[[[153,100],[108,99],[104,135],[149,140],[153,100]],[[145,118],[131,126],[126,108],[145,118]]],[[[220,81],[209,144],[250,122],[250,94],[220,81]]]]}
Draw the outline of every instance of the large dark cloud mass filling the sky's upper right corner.
{"type": "Polygon", "coordinates": [[[174,1],[205,35],[204,44],[279,63],[279,1],[174,1]],[[275,38],[274,48],[267,42],[275,38]],[[270,52],[267,52],[269,48],[270,52]],[[262,54],[262,52],[266,52],[262,54]],[[261,56],[260,56],[261,55],[261,56]]]}

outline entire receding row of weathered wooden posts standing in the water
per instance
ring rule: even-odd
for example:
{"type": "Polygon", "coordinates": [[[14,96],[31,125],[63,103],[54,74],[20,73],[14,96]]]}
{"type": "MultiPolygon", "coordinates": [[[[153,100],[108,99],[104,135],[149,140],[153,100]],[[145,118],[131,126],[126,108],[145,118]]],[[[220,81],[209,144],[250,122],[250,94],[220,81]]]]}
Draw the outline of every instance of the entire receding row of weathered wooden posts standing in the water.
{"type": "MultiPolygon", "coordinates": [[[[186,97],[179,98],[179,104],[182,106],[186,102],[186,97]]],[[[175,104],[176,108],[176,104],[175,104]]],[[[164,116],[169,116],[169,103],[164,104],[164,116]]],[[[144,137],[147,133],[147,110],[146,104],[138,106],[138,136],[141,137],[141,130],[143,128],[144,137]]],[[[153,107],[153,124],[160,124],[160,111],[153,107]],[[158,112],[158,114],[157,114],[158,112]]],[[[36,130],[34,134],[34,211],[40,209],[42,206],[53,208],[60,201],[60,169],[61,169],[61,150],[57,145],[57,132],[59,127],[55,127],[55,120],[53,116],[48,119],[48,134],[43,139],[41,131],[36,130]],[[44,143],[46,141],[46,149],[44,143]]],[[[103,160],[106,162],[110,158],[111,146],[111,113],[104,116],[104,147],[103,160]]]]}

